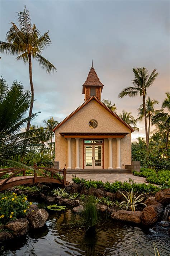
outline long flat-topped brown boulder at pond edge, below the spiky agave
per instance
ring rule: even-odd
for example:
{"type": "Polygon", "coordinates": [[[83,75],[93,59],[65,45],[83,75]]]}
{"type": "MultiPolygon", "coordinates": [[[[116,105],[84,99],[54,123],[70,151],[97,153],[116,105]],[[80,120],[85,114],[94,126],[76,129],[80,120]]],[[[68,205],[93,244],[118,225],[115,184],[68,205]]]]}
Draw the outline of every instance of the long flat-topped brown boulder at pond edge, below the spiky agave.
{"type": "Polygon", "coordinates": [[[130,221],[133,223],[141,223],[141,212],[140,211],[126,211],[119,210],[111,214],[111,218],[114,220],[130,221]]]}

